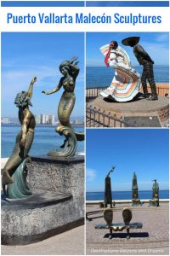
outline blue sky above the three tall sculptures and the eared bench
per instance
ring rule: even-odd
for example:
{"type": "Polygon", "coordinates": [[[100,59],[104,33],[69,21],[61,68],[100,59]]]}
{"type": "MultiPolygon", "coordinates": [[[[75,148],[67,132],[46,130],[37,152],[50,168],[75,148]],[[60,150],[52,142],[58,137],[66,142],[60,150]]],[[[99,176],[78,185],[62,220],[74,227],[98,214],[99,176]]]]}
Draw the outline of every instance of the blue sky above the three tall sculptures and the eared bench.
{"type": "Polygon", "coordinates": [[[155,178],[168,189],[167,129],[88,129],[86,140],[87,192],[104,191],[111,165],[113,191],[131,190],[133,172],[140,190],[151,189],[155,178]]]}

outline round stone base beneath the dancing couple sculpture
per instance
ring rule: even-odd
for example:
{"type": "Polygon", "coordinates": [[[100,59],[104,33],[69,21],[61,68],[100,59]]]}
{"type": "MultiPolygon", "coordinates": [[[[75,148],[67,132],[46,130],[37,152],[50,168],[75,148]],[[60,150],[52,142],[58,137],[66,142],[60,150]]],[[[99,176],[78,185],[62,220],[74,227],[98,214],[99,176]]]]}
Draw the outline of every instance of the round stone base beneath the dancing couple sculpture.
{"type": "Polygon", "coordinates": [[[105,113],[111,112],[112,116],[116,114],[118,119],[125,117],[127,122],[133,122],[132,125],[159,127],[168,124],[169,99],[165,96],[158,96],[158,101],[148,101],[139,96],[131,102],[112,102],[98,96],[90,105],[105,110],[105,113]]]}

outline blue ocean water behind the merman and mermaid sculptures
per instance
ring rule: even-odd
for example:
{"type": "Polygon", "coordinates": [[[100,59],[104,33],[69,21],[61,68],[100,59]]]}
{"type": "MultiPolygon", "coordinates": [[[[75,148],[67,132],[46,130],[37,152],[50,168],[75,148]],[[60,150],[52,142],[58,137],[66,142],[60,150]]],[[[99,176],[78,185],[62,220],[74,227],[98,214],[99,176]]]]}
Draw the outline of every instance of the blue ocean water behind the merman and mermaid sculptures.
{"type": "MultiPolygon", "coordinates": [[[[47,154],[52,149],[59,149],[65,137],[54,131],[54,125],[37,125],[35,137],[29,155],[47,154]]],[[[83,132],[82,126],[75,126],[76,131],[83,132]]],[[[1,127],[1,157],[9,157],[15,144],[15,137],[20,131],[20,125],[2,125],[1,127]]],[[[84,142],[77,143],[77,152],[84,151],[84,142]]]]}

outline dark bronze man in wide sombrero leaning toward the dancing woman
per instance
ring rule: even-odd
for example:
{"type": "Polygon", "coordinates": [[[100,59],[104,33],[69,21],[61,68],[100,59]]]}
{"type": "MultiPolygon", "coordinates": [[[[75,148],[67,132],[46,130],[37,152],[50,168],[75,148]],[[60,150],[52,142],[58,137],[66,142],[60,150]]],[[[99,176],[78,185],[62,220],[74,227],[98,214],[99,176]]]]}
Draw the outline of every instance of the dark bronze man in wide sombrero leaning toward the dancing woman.
{"type": "Polygon", "coordinates": [[[154,80],[153,64],[154,61],[150,58],[150,55],[144,50],[144,48],[138,44],[139,37],[125,38],[122,40],[122,44],[133,47],[133,53],[139,64],[143,66],[143,73],[141,77],[142,87],[144,90],[144,98],[149,99],[150,101],[156,101],[158,99],[156,92],[156,83],[154,80]],[[146,84],[148,80],[150,84],[151,97],[148,93],[148,88],[146,84]]]}

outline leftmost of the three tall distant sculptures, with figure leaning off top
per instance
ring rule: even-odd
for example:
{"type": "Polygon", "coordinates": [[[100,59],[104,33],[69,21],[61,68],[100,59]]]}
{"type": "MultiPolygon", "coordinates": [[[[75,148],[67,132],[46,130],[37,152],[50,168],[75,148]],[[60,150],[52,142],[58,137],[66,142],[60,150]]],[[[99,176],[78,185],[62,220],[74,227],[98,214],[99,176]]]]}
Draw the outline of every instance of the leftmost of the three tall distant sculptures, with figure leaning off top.
{"type": "Polygon", "coordinates": [[[108,204],[111,205],[112,208],[112,195],[111,195],[111,172],[114,172],[116,166],[112,166],[110,172],[108,172],[107,176],[105,177],[105,207],[107,207],[108,204]]]}

